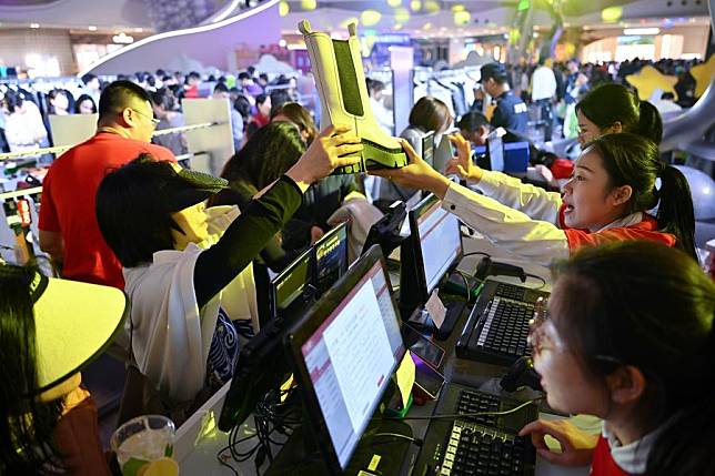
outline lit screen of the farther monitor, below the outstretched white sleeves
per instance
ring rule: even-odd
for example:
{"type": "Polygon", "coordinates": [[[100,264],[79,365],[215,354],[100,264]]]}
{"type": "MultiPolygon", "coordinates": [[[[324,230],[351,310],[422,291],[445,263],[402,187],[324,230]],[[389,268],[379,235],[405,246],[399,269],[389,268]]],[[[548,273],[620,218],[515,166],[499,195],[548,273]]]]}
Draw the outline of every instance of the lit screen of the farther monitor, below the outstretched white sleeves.
{"type": "Polygon", "coordinates": [[[426,209],[416,212],[427,295],[462,254],[460,221],[441,205],[440,201],[425,199],[426,209]]]}

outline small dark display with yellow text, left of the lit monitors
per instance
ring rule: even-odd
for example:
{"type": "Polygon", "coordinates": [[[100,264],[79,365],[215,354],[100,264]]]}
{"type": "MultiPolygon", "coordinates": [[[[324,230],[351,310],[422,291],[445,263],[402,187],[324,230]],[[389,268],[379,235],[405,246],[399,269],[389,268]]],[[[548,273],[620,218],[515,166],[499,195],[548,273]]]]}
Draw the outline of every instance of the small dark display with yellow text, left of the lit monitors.
{"type": "Polygon", "coordinates": [[[325,233],[313,245],[315,252],[316,297],[338,282],[348,271],[348,223],[341,223],[325,233]]]}

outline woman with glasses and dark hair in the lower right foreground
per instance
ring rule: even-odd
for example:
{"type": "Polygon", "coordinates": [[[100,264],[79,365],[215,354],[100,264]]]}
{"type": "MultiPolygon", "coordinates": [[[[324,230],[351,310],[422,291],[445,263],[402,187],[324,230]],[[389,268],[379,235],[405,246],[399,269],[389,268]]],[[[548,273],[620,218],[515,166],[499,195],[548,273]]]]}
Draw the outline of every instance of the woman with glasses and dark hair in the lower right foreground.
{"type": "Polygon", "coordinates": [[[602,435],[566,421],[521,434],[591,476],[715,474],[714,317],[715,283],[682,252],[624,242],[577,253],[530,342],[548,405],[603,418],[602,435]]]}

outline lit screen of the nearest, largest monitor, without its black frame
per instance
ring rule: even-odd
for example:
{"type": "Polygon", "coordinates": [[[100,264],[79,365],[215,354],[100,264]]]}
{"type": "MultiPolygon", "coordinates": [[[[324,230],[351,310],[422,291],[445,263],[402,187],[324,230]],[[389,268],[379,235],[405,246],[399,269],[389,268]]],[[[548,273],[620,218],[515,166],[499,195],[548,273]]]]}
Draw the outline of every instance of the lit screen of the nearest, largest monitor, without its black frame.
{"type": "Polygon", "coordinates": [[[330,443],[344,469],[404,354],[380,260],[299,345],[330,443]]]}

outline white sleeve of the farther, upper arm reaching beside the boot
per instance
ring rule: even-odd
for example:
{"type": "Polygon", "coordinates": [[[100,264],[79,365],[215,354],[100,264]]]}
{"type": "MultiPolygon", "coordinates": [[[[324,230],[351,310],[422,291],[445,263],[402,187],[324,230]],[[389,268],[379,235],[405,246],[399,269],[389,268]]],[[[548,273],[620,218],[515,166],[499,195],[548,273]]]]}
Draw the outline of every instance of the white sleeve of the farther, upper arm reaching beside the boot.
{"type": "Polygon", "coordinates": [[[558,224],[561,195],[502,172],[485,170],[482,180],[473,185],[482,193],[511,209],[518,210],[534,220],[558,224]]]}

